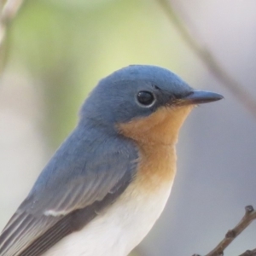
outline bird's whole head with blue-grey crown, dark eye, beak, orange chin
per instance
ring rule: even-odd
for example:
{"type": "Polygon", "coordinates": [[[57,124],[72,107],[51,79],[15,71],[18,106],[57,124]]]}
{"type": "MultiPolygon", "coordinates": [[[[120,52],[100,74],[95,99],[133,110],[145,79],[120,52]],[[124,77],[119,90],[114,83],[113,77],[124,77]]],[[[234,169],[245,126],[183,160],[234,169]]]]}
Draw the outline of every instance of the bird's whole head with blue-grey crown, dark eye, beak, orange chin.
{"type": "Polygon", "coordinates": [[[90,119],[145,143],[176,143],[184,119],[195,105],[223,96],[194,90],[162,67],[132,65],[102,79],[81,109],[90,119]]]}

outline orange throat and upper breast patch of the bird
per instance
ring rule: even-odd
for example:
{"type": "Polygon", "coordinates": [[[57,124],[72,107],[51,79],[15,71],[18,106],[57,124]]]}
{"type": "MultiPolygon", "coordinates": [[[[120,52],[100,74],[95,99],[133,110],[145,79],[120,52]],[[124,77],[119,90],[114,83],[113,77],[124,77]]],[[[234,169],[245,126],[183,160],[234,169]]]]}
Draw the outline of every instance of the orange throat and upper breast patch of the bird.
{"type": "Polygon", "coordinates": [[[119,124],[119,132],[139,148],[137,182],[154,191],[173,181],[176,173],[178,132],[193,106],[161,107],[148,117],[119,124]]]}

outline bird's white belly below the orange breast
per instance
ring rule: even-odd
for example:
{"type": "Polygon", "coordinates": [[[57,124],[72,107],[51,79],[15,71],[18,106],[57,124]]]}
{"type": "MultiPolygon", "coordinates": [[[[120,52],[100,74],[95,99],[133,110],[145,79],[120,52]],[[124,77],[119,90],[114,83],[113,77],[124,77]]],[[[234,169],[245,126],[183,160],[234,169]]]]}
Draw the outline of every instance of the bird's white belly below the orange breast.
{"type": "Polygon", "coordinates": [[[172,182],[164,183],[145,195],[130,185],[106,212],[63,238],[44,256],[126,256],[159,218],[171,189],[172,182]]]}

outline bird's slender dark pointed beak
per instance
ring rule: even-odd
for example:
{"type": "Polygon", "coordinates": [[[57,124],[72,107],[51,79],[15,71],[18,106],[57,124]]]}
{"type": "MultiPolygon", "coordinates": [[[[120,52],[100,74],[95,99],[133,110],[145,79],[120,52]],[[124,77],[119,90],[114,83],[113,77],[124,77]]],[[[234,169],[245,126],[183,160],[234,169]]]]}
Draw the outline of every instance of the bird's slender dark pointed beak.
{"type": "Polygon", "coordinates": [[[223,99],[224,96],[206,90],[193,90],[188,96],[181,98],[177,105],[196,105],[201,103],[216,102],[223,99]]]}

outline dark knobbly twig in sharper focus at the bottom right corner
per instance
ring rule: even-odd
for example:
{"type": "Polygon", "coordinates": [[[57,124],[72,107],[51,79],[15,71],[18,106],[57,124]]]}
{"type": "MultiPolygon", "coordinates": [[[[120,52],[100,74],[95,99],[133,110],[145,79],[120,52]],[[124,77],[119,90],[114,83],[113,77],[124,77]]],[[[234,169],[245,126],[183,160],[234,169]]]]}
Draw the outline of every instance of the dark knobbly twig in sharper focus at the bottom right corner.
{"type": "MultiPolygon", "coordinates": [[[[230,243],[234,241],[235,238],[239,236],[241,232],[245,230],[247,226],[253,222],[253,220],[256,218],[256,211],[254,211],[252,206],[245,207],[245,210],[245,215],[243,216],[243,218],[241,218],[241,221],[236,225],[236,227],[232,230],[229,230],[225,235],[224,239],[218,243],[218,246],[215,247],[210,253],[207,253],[206,256],[224,255],[224,250],[230,245],[230,243]]],[[[194,254],[193,256],[200,255],[194,254]]],[[[256,249],[252,251],[247,250],[240,256],[256,256],[256,249]]]]}

